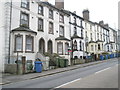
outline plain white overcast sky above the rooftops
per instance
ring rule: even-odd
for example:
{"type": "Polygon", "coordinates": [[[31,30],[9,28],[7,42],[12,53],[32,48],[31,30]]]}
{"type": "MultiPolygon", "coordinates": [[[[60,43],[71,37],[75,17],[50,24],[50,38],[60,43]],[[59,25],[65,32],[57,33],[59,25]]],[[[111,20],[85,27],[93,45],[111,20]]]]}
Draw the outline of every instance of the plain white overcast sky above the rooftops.
{"type": "MultiPolygon", "coordinates": [[[[48,0],[53,5],[55,0],[48,0]]],[[[120,0],[64,0],[64,9],[76,11],[82,17],[82,11],[88,9],[90,21],[108,23],[110,27],[118,28],[118,2],[120,0]]]]}

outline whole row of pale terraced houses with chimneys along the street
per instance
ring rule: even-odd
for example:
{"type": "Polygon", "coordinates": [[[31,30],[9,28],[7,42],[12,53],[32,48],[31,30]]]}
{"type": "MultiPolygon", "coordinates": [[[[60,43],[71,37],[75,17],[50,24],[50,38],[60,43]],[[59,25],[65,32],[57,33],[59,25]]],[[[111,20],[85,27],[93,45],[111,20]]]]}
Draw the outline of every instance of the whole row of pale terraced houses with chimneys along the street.
{"type": "Polygon", "coordinates": [[[65,10],[63,0],[55,0],[55,5],[47,0],[6,0],[0,7],[1,71],[4,64],[15,64],[22,57],[33,64],[41,59],[46,70],[51,60],[48,54],[68,59],[71,65],[72,59],[95,55],[96,60],[118,49],[116,30],[103,21],[92,22],[87,9],[83,17],[65,10]]]}

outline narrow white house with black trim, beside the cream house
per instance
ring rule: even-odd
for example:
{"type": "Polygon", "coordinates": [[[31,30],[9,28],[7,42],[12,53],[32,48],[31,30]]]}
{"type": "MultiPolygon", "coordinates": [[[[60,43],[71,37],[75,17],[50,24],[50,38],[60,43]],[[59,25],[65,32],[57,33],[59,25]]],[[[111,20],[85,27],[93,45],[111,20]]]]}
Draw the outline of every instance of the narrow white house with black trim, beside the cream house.
{"type": "Polygon", "coordinates": [[[83,18],[70,12],[70,31],[71,31],[71,46],[73,55],[72,58],[83,59],[85,53],[85,32],[83,28],[83,18]]]}

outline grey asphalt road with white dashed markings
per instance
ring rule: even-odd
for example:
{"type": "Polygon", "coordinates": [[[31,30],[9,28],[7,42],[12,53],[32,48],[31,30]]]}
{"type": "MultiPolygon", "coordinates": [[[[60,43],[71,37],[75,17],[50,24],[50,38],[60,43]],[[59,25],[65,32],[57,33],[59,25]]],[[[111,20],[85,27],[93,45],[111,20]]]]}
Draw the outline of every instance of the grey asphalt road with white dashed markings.
{"type": "Polygon", "coordinates": [[[118,88],[118,60],[3,85],[3,88],[118,88]]]}

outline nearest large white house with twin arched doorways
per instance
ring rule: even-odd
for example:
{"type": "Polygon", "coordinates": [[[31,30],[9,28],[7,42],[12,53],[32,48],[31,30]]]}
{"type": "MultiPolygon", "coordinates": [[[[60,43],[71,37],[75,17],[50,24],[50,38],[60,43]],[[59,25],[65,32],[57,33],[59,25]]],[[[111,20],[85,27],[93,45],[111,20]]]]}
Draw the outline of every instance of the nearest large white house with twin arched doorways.
{"type": "Polygon", "coordinates": [[[6,64],[15,63],[17,53],[19,60],[25,56],[26,60],[34,61],[37,57],[45,59],[46,52],[57,53],[68,59],[70,64],[69,13],[48,2],[19,0],[4,2],[2,5],[5,28],[1,28],[1,50],[4,52],[0,56],[6,64]]]}

